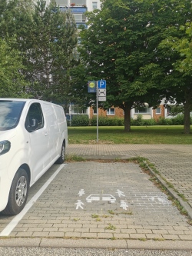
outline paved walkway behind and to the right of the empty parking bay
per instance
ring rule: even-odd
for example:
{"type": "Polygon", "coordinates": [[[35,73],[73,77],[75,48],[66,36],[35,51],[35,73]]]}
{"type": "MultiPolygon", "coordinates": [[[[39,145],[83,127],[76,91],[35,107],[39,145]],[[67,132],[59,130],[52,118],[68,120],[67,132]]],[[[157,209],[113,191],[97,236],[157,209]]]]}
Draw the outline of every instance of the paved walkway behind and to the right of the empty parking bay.
{"type": "Polygon", "coordinates": [[[183,206],[192,218],[192,145],[78,144],[68,145],[67,153],[83,158],[147,158],[161,176],[179,192],[181,203],[184,195],[187,203],[183,201],[183,206]]]}

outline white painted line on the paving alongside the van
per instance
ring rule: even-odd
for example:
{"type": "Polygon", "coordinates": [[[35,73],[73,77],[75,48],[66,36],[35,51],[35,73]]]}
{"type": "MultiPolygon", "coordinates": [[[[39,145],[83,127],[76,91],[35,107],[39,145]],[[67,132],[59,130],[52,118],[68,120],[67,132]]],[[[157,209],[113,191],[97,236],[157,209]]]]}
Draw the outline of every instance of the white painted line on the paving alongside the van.
{"type": "Polygon", "coordinates": [[[58,175],[59,171],[61,171],[64,166],[65,164],[59,166],[57,171],[55,171],[55,173],[51,175],[48,181],[45,182],[45,185],[43,185],[39,189],[39,191],[31,198],[31,200],[28,201],[28,204],[25,205],[25,208],[19,214],[17,214],[15,218],[13,218],[12,221],[2,230],[2,232],[0,233],[0,237],[6,237],[12,232],[18,222],[21,221],[21,219],[25,216],[31,206],[35,203],[35,201],[38,200],[38,198],[45,191],[45,189],[48,188],[48,185],[51,183],[51,181],[54,180],[54,178],[58,175]]]}

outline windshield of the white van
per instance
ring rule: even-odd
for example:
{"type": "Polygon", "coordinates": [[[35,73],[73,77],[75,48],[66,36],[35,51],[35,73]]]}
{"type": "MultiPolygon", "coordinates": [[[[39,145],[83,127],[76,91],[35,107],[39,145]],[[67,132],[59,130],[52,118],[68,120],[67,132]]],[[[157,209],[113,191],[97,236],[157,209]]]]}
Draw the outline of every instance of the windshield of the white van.
{"type": "Polygon", "coordinates": [[[24,105],[25,101],[0,100],[0,131],[10,130],[18,125],[24,105]]]}

